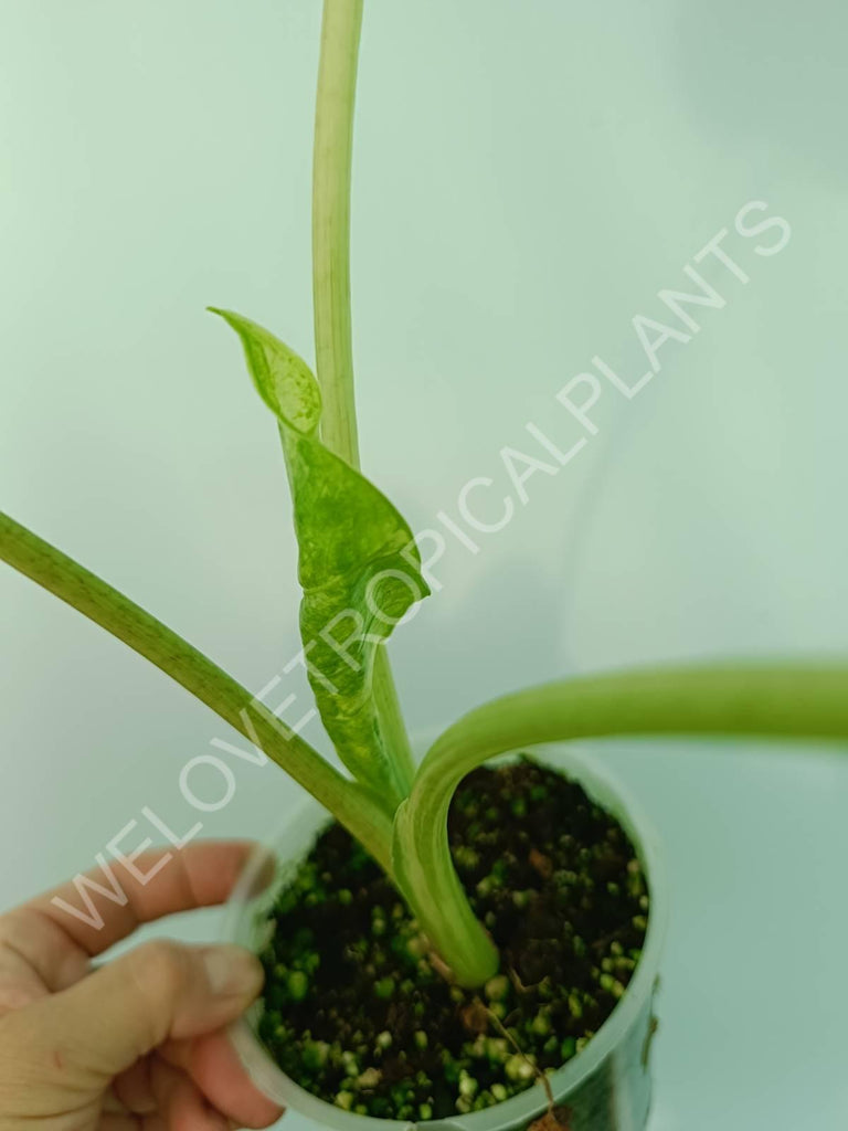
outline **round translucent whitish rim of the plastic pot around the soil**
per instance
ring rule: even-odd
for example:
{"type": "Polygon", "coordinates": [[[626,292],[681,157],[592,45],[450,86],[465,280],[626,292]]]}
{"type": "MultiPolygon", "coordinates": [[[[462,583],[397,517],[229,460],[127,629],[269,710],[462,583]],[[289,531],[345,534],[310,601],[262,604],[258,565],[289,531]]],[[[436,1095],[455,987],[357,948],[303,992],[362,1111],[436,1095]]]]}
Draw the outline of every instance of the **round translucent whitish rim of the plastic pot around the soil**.
{"type": "MultiPolygon", "coordinates": [[[[522,751],[523,752],[523,751],[522,751]]],[[[625,1038],[631,1027],[639,1020],[644,1001],[654,994],[659,967],[659,958],[668,917],[668,881],[663,860],[660,839],[648,819],[641,803],[633,798],[629,788],[615,774],[603,766],[597,756],[577,749],[572,743],[545,743],[528,749],[530,757],[538,758],[552,769],[574,777],[597,804],[612,813],[621,823],[637,849],[648,879],[650,906],[648,930],[642,956],[637,965],[626,992],[606,1021],[581,1052],[566,1064],[548,1073],[554,1096],[566,1102],[568,1094],[576,1089],[625,1038]]],[[[516,754],[504,754],[492,759],[490,765],[509,760],[516,754]]],[[[286,821],[286,831],[303,831],[303,843],[308,843],[320,828],[320,818],[331,820],[331,814],[306,796],[286,821]],[[306,829],[309,828],[309,834],[306,829]]],[[[279,877],[265,898],[258,898],[261,887],[259,877],[266,872],[269,860],[277,861],[276,846],[279,831],[270,843],[260,846],[249,858],[226,905],[224,939],[227,942],[243,938],[245,915],[256,921],[262,905],[268,907],[279,887],[279,877]]],[[[517,1096],[493,1104],[491,1107],[468,1114],[445,1116],[441,1120],[412,1121],[387,1120],[371,1115],[347,1112],[306,1091],[287,1077],[271,1059],[265,1045],[253,1033],[250,1019],[258,1020],[261,1002],[233,1026],[230,1036],[245,1071],[253,1083],[272,1099],[298,1111],[335,1131],[500,1131],[521,1123],[528,1123],[546,1107],[546,1098],[537,1087],[530,1087],[517,1096]]]]}

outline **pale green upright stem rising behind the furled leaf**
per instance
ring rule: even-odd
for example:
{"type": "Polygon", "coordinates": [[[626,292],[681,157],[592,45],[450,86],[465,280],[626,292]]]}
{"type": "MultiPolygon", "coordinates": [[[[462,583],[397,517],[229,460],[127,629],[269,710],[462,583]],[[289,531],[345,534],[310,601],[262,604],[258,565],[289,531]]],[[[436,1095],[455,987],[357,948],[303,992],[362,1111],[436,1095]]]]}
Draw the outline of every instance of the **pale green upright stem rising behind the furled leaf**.
{"type": "MultiPolygon", "coordinates": [[[[360,466],[351,329],[351,166],[363,0],[325,0],[312,171],[312,278],[321,439],[360,466]]],[[[388,655],[378,650],[374,698],[401,796],[415,763],[388,655]]]]}

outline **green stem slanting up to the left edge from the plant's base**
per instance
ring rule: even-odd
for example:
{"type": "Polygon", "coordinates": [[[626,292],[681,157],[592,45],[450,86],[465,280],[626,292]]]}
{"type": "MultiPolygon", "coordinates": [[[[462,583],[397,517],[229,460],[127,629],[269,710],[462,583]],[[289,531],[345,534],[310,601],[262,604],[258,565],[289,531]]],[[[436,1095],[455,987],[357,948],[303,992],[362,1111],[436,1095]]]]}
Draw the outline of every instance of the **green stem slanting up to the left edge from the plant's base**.
{"type": "Polygon", "coordinates": [[[391,817],[226,672],[123,594],[0,512],[0,559],[190,691],[308,789],[391,874],[391,817]]]}

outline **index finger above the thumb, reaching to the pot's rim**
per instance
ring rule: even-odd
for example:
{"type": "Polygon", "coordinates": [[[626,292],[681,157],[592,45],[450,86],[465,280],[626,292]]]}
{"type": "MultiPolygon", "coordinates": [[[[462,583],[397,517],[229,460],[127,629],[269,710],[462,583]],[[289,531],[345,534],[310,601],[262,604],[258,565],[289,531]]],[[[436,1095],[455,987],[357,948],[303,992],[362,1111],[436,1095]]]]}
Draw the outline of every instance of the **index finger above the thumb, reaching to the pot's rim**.
{"type": "Polygon", "coordinates": [[[224,903],[253,848],[244,840],[208,840],[145,853],[133,862],[145,882],[112,863],[24,907],[50,918],[87,955],[99,955],[140,923],[224,903]]]}

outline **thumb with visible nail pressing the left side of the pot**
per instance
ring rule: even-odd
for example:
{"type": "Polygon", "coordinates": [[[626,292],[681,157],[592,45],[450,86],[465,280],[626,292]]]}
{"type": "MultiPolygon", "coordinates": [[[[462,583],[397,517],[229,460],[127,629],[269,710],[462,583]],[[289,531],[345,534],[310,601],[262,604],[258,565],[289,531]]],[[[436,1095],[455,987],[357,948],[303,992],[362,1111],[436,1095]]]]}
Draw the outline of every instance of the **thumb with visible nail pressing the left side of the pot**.
{"type": "Polygon", "coordinates": [[[235,1020],[262,986],[241,947],[148,942],[44,1001],[69,1062],[112,1078],[170,1038],[235,1020]]]}

